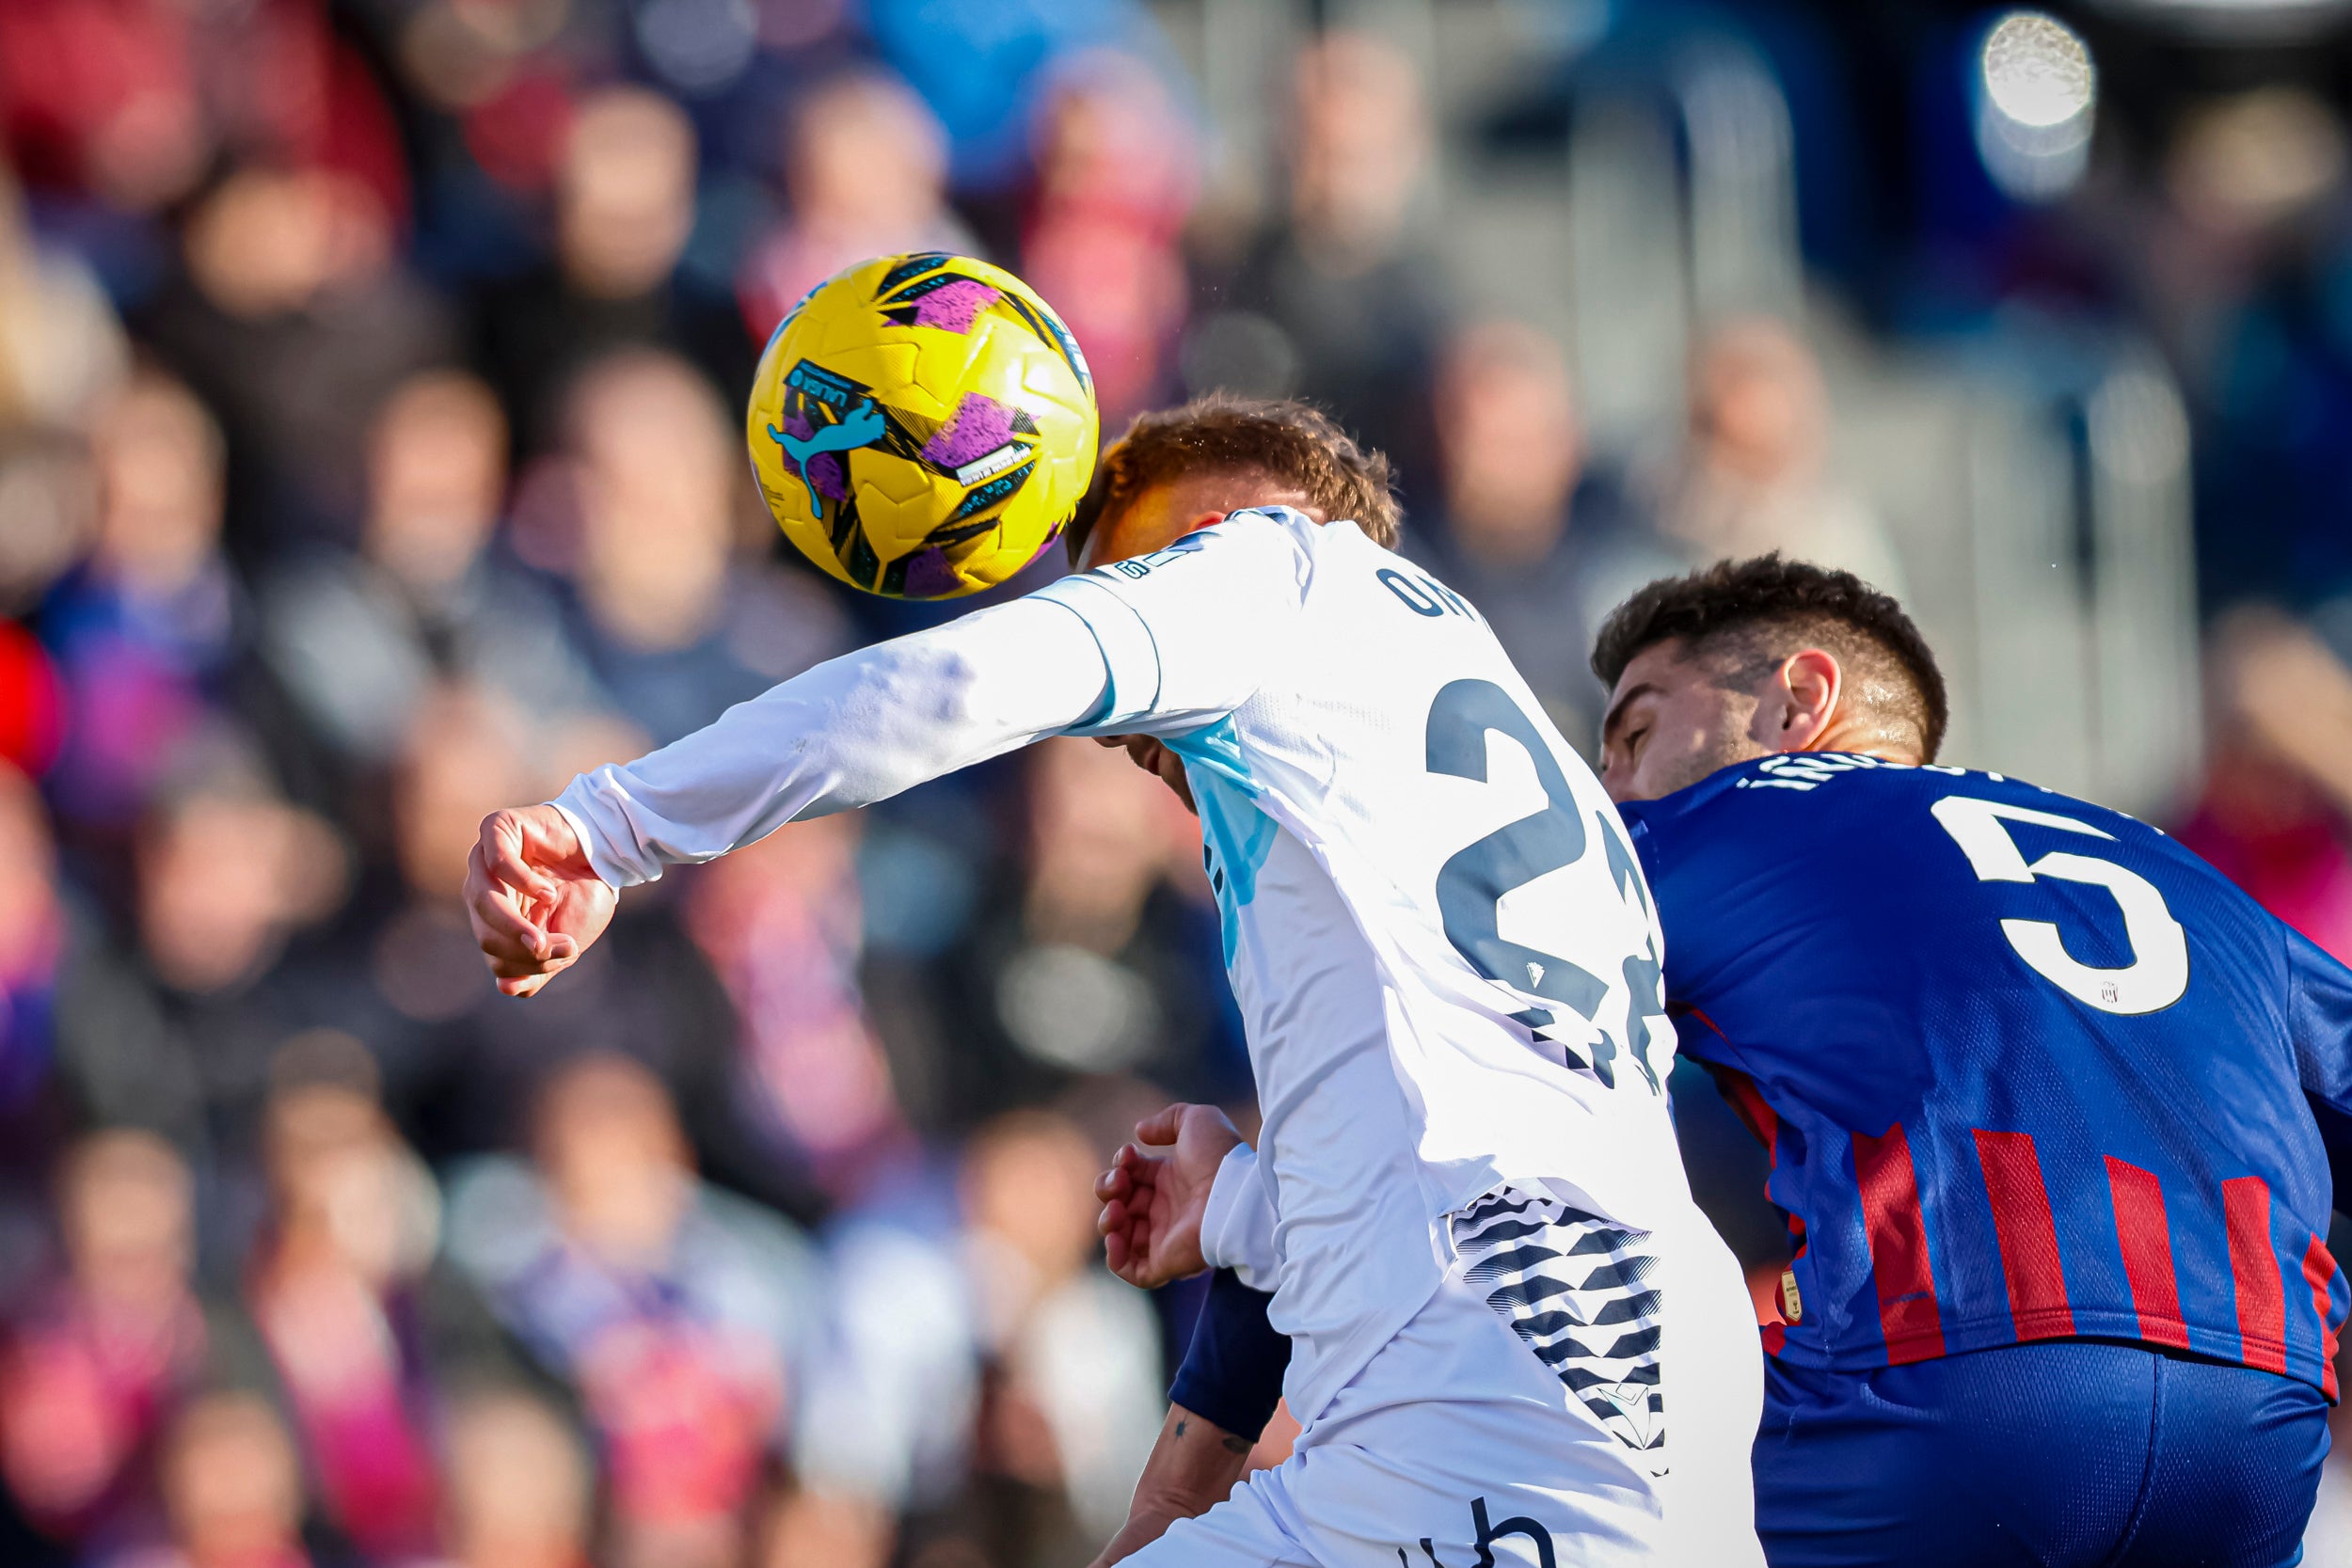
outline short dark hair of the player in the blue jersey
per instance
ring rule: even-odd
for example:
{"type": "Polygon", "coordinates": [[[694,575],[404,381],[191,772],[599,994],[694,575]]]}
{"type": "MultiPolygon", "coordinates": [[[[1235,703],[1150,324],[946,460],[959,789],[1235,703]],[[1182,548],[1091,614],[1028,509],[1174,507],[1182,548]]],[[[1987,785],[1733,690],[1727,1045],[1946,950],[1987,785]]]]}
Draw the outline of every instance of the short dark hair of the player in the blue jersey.
{"type": "Polygon", "coordinates": [[[1952,715],[1936,654],[1893,597],[1851,571],[1776,550],[1658,578],[1609,614],[1592,644],[1592,672],[1616,689],[1625,665],[1661,642],[1682,642],[1686,656],[1729,656],[1724,679],[1738,686],[1818,646],[1837,656],[1865,703],[1917,731],[1922,762],[1943,748],[1952,715]]]}

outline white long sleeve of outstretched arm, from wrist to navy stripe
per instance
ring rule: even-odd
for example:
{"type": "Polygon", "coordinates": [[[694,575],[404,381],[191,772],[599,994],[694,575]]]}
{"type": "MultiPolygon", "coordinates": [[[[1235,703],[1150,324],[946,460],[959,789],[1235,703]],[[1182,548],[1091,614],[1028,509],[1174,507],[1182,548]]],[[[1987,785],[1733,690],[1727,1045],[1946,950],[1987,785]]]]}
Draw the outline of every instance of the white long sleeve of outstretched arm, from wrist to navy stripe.
{"type": "Polygon", "coordinates": [[[1110,689],[1096,632],[1051,597],[844,654],[555,799],[614,886],[889,799],[1080,729],[1110,689]]]}

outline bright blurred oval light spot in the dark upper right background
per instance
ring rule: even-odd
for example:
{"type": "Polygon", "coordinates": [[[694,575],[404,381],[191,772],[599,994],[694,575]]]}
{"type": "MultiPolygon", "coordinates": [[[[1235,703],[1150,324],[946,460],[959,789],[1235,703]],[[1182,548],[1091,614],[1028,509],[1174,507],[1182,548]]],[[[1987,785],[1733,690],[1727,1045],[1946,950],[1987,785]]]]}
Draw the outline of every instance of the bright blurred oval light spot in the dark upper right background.
{"type": "Polygon", "coordinates": [[[2072,190],[2091,162],[2098,71],[2074,28],[2046,12],[2009,12],[1978,52],[1976,150],[1992,183],[2020,202],[2072,190]]]}

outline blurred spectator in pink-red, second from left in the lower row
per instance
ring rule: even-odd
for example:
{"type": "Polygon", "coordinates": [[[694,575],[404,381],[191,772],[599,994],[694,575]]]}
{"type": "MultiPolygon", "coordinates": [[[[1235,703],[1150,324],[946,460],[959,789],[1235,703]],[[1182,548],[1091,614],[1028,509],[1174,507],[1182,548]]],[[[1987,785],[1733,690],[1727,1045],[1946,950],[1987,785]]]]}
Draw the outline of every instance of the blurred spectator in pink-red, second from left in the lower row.
{"type": "MultiPolygon", "coordinates": [[[[365,1079],[365,1053],[343,1044],[334,1067],[365,1079]]],[[[442,1347],[428,1335],[449,1326],[423,1300],[433,1178],[369,1088],[294,1081],[270,1098],[270,1220],[245,1295],[327,1519],[367,1556],[402,1561],[437,1535],[428,1441],[442,1368],[428,1356],[442,1347]]]]}

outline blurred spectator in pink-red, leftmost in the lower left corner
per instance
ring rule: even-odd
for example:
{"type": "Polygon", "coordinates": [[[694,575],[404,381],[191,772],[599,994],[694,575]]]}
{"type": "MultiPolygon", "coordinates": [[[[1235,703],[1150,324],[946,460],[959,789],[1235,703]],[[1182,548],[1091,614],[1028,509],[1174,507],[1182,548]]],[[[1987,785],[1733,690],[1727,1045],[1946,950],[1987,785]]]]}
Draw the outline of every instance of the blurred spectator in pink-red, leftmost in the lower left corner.
{"type": "Polygon", "coordinates": [[[0,1359],[0,1469],[85,1556],[155,1540],[155,1446],[205,1371],[188,1166],[153,1133],[80,1140],[56,1175],[64,1274],[16,1302],[0,1359]]]}

